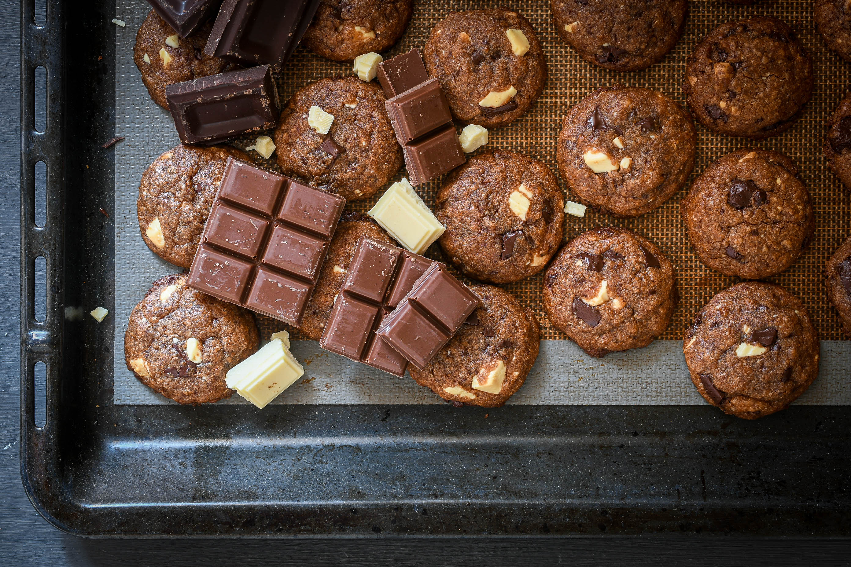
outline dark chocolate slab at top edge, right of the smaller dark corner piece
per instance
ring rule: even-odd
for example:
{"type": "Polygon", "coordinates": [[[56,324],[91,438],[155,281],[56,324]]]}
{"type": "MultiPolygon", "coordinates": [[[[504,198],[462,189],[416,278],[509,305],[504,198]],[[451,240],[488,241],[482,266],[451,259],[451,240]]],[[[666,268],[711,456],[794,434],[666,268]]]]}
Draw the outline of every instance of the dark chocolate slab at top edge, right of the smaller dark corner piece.
{"type": "Polygon", "coordinates": [[[316,14],[319,0],[225,0],[204,53],[241,65],[282,65],[316,14]]]}

